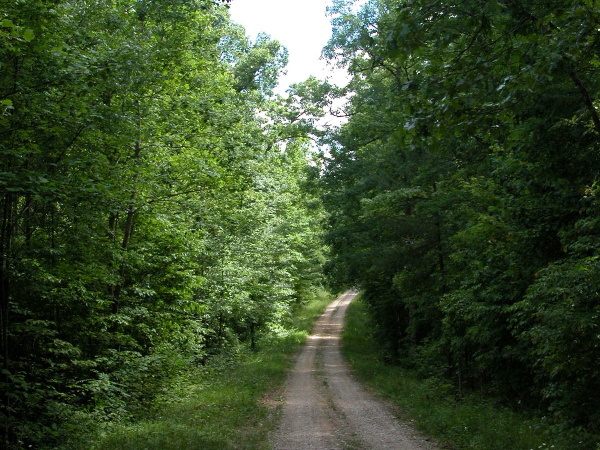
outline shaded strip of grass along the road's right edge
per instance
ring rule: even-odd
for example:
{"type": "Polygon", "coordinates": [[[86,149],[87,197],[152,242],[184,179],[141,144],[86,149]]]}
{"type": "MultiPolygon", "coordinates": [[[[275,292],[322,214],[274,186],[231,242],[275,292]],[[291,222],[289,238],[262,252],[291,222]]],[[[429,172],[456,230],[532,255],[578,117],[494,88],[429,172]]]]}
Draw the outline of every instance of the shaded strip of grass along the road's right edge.
{"type": "Polygon", "coordinates": [[[367,306],[357,298],[348,310],[342,351],[359,378],[399,406],[412,422],[444,448],[477,450],[594,449],[589,436],[557,430],[500,407],[490,399],[467,396],[457,401],[448,383],[419,378],[385,364],[372,338],[367,306]],[[585,442],[584,442],[585,441],[585,442]]]}

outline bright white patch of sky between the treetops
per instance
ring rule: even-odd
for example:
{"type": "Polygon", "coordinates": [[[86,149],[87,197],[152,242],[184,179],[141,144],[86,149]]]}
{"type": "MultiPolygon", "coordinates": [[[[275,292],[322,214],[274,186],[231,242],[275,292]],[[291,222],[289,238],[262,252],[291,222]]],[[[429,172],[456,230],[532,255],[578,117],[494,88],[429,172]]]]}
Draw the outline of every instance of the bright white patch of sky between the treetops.
{"type": "Polygon", "coordinates": [[[326,16],[330,4],[331,0],[232,0],[231,18],[252,40],[265,32],[288,49],[287,75],[280,79],[278,93],[311,75],[320,79],[331,76],[332,82],[343,83],[345,71],[320,59],[331,36],[330,18],[326,16]]]}

